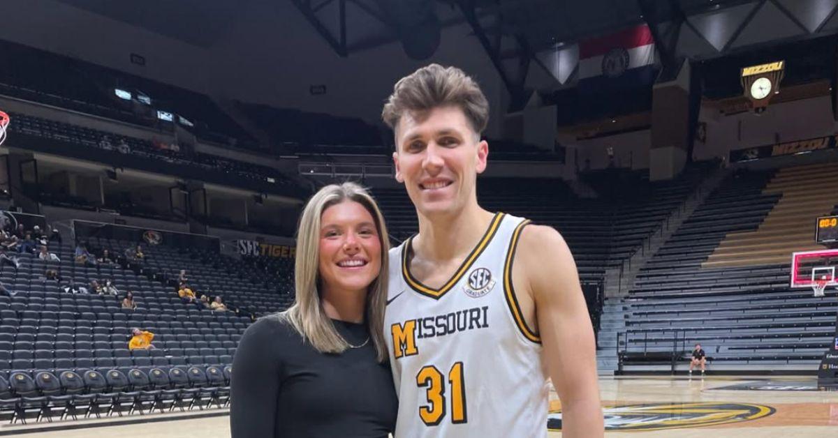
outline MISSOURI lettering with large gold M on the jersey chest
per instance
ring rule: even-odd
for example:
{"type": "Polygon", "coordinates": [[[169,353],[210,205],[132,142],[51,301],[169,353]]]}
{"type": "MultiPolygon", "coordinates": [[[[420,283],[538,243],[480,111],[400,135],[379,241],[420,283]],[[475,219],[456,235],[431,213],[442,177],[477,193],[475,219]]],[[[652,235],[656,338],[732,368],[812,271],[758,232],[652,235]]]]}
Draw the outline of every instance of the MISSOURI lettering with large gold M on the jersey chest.
{"type": "Polygon", "coordinates": [[[434,338],[456,332],[489,327],[489,306],[472,307],[457,312],[408,319],[390,327],[393,336],[393,353],[396,358],[419,353],[416,339],[434,338]]]}

